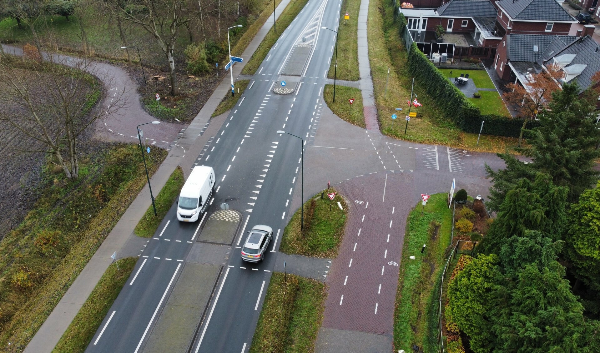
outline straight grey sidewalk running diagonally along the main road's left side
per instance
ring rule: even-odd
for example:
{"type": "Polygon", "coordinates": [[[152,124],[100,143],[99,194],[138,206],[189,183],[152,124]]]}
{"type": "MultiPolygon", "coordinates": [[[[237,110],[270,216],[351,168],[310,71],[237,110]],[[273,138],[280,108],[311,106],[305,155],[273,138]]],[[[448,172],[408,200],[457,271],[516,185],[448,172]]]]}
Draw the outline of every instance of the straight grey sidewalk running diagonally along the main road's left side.
{"type": "MultiPolygon", "coordinates": [[[[278,5],[275,13],[278,17],[289,4],[290,0],[283,0],[278,5]]],[[[254,39],[250,42],[247,49],[242,54],[243,58],[250,59],[256,48],[265,38],[272,23],[266,22],[254,39]]],[[[235,54],[235,53],[234,53],[235,54]]],[[[243,63],[233,67],[233,76],[238,77],[244,68],[243,63]]],[[[195,151],[202,150],[202,146],[210,137],[210,134],[202,134],[206,128],[206,123],[211,122],[213,131],[218,131],[220,124],[224,119],[211,120],[211,115],[217,108],[217,105],[230,90],[230,77],[224,76],[223,82],[215,89],[206,104],[190,123],[190,125],[178,135],[178,143],[170,150],[169,156],[163,161],[158,170],[152,176],[152,186],[155,194],[163,188],[169,176],[178,165],[182,166],[184,173],[189,175],[189,169],[194,164],[196,156],[195,151]],[[215,124],[217,123],[217,124],[215,124]],[[202,136],[199,136],[202,135],[202,136]],[[194,152],[194,153],[193,153],[194,152]]],[[[88,264],[83,268],[77,279],[70,286],[68,291],[56,305],[55,309],[48,316],[43,325],[32,338],[29,345],[25,348],[25,353],[50,353],[56,346],[62,334],[71,324],[80,307],[85,303],[89,294],[92,292],[100,277],[112,263],[110,256],[117,252],[121,257],[123,246],[131,242],[130,236],[133,233],[137,222],[142,218],[148,207],[151,205],[150,193],[148,187],[142,189],[124,215],[119,219],[109,236],[104,240],[88,264]]]]}

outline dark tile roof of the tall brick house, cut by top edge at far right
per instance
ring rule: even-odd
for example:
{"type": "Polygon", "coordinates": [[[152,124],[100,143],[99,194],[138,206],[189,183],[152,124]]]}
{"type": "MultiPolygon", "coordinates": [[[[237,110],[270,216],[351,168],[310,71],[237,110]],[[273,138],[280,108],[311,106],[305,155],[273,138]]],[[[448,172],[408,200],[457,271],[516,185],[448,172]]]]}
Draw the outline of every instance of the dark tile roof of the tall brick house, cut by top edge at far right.
{"type": "Polygon", "coordinates": [[[496,5],[513,20],[575,22],[575,19],[556,0],[500,0],[496,5]]]}

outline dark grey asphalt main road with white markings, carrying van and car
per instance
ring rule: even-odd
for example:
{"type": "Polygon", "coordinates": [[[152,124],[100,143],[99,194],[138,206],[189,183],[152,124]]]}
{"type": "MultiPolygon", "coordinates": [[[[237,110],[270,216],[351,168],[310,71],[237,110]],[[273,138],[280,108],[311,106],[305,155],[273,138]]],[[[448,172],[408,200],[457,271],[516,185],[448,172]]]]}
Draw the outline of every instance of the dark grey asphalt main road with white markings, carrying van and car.
{"type": "MultiPolygon", "coordinates": [[[[245,90],[199,162],[215,168],[217,177],[217,192],[208,212],[221,203],[242,212],[245,227],[236,235],[234,245],[239,247],[245,230],[256,224],[273,227],[275,238],[261,264],[242,263],[235,252],[230,257],[196,337],[194,352],[240,352],[250,348],[274,268],[275,254],[271,250],[277,251],[302,173],[301,140],[275,131],[284,129],[304,139],[314,131],[313,122],[324,104],[321,95],[335,44],[335,34],[320,27],[337,29],[340,4],[340,0],[308,2],[269,52],[260,74],[245,90]],[[303,37],[316,45],[302,77],[304,82],[290,95],[272,93],[293,46],[301,44],[303,37]]],[[[172,207],[86,352],[143,350],[181,273],[198,225],[199,222],[178,222],[172,207]]]]}

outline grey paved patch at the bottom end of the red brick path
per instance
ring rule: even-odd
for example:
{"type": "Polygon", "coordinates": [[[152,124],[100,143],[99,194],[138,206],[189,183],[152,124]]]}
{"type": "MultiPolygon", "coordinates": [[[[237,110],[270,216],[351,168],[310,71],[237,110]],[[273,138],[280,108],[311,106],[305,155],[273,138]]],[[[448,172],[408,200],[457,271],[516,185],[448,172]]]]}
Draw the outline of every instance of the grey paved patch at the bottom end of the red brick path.
{"type": "Polygon", "coordinates": [[[321,328],[314,351],[316,353],[389,353],[391,346],[391,335],[321,328]]]}

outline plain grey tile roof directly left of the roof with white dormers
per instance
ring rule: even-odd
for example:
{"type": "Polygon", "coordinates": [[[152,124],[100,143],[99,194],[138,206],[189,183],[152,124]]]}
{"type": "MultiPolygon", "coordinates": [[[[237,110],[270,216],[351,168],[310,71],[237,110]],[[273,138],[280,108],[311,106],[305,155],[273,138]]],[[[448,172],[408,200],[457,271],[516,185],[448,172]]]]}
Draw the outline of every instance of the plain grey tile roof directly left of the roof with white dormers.
{"type": "Polygon", "coordinates": [[[536,62],[553,40],[561,41],[565,47],[575,38],[572,35],[509,34],[506,35],[507,56],[509,61],[536,62]]]}

